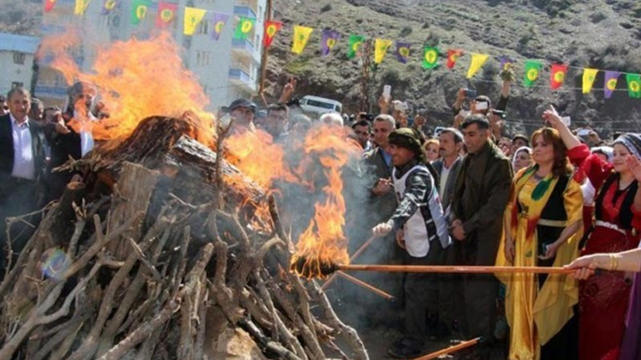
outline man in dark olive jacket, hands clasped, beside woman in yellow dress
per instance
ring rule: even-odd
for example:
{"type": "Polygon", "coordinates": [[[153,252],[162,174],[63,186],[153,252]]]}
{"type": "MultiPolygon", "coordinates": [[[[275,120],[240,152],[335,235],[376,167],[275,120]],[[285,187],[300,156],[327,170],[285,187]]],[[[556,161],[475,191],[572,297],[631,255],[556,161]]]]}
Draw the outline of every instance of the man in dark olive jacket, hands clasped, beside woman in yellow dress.
{"type": "MultiPolygon", "coordinates": [[[[451,201],[451,231],[455,265],[494,266],[503,236],[503,213],[510,200],[512,165],[490,138],[490,122],[480,114],[462,124],[468,154],[463,159],[451,201]]],[[[499,282],[493,275],[462,275],[456,290],[460,327],[466,338],[482,336],[476,348],[488,359],[497,316],[499,282]]]]}

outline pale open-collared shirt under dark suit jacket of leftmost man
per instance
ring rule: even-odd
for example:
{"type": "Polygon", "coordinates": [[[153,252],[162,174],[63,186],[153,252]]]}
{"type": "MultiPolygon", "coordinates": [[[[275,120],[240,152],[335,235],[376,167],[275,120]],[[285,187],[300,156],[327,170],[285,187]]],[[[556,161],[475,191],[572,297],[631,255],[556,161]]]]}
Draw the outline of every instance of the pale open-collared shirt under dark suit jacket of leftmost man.
{"type": "Polygon", "coordinates": [[[35,161],[31,145],[31,131],[29,119],[18,124],[13,114],[11,118],[11,133],[13,135],[13,170],[12,177],[21,179],[35,179],[35,161]]]}

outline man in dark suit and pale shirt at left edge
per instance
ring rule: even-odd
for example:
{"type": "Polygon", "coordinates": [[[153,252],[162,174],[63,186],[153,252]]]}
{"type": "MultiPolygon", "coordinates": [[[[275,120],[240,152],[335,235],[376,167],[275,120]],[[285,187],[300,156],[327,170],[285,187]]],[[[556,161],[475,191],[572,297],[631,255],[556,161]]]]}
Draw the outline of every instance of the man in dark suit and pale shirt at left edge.
{"type": "MultiPolygon", "coordinates": [[[[7,95],[9,113],[0,117],[0,265],[6,261],[5,218],[29,213],[42,205],[45,175],[45,138],[42,126],[30,120],[28,90],[17,87],[7,95]]],[[[35,217],[34,217],[35,218],[35,217]]],[[[30,220],[35,220],[34,218],[30,220]]],[[[33,222],[32,222],[33,224],[33,222]]],[[[13,224],[10,231],[14,256],[33,234],[33,228],[13,224]]]]}

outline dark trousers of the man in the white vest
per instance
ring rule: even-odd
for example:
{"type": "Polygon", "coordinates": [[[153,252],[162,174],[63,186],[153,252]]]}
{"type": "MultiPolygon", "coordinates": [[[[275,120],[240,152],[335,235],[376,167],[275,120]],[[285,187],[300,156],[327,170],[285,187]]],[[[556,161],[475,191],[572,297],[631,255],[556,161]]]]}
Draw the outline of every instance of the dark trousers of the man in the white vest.
{"type": "MultiPolygon", "coordinates": [[[[437,265],[441,247],[430,243],[429,252],[422,258],[406,254],[405,265],[437,265]]],[[[438,312],[438,278],[429,273],[405,275],[405,337],[422,345],[428,332],[428,313],[438,312]]]]}

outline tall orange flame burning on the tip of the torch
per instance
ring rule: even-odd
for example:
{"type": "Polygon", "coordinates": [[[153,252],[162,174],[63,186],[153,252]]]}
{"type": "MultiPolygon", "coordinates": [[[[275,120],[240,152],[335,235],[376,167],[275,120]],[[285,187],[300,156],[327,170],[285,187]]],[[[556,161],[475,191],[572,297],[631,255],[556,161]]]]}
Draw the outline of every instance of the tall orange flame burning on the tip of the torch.
{"type": "Polygon", "coordinates": [[[323,188],[327,198],[315,204],[315,215],[296,244],[290,269],[312,278],[323,277],[334,264],[349,263],[345,225],[345,200],[341,170],[360,148],[347,140],[347,129],[333,125],[315,127],[305,139],[305,152],[318,156],[328,184],[323,188]]]}

